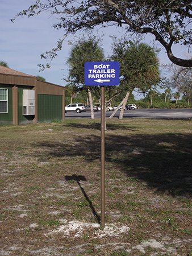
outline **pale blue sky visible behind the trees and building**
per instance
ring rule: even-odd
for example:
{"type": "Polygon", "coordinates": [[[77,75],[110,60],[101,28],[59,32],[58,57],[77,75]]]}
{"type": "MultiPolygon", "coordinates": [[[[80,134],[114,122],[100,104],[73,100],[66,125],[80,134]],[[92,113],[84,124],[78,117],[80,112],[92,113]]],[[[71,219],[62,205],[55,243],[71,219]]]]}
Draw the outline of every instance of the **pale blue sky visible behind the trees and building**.
{"type": "MultiPolygon", "coordinates": [[[[27,9],[33,3],[35,0],[0,0],[0,60],[6,61],[11,69],[32,76],[43,76],[47,82],[65,86],[64,78],[68,75],[66,60],[72,48],[68,40],[74,43],[82,36],[82,33],[67,38],[62,50],[53,59],[51,68],[39,72],[37,65],[46,64],[40,57],[41,53],[56,47],[57,40],[62,38],[63,31],[55,30],[52,27],[56,20],[48,12],[31,18],[18,17],[14,23],[10,21],[19,11],[27,9]]],[[[111,52],[112,39],[110,35],[116,35],[120,38],[124,35],[124,31],[122,28],[107,27],[95,30],[95,35],[99,37],[102,35],[102,47],[107,57],[111,52]]],[[[153,40],[153,36],[147,36],[144,42],[152,45],[153,40]]],[[[158,43],[155,46],[161,47],[158,43]]],[[[187,49],[177,46],[173,53],[178,57],[186,58],[187,49]]],[[[171,63],[162,47],[158,58],[161,64],[171,63]]],[[[162,69],[162,73],[164,76],[168,75],[165,69],[162,69]]],[[[138,94],[135,96],[137,99],[140,98],[138,94]]]]}

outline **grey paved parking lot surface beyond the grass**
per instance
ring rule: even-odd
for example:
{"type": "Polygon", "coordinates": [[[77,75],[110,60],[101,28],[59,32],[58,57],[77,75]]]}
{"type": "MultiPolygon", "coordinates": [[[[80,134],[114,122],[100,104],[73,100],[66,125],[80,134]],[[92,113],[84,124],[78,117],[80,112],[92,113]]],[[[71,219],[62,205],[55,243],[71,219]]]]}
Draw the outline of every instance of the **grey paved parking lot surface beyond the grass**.
{"type": "MultiPolygon", "coordinates": [[[[119,118],[119,111],[114,118],[119,118]]],[[[95,118],[101,117],[101,112],[94,112],[95,118]]],[[[106,117],[110,117],[112,111],[106,112],[106,117]]],[[[90,118],[90,112],[66,113],[65,118],[90,118]]],[[[158,119],[189,119],[192,118],[192,109],[135,109],[124,111],[123,118],[158,118],[158,119]]]]}

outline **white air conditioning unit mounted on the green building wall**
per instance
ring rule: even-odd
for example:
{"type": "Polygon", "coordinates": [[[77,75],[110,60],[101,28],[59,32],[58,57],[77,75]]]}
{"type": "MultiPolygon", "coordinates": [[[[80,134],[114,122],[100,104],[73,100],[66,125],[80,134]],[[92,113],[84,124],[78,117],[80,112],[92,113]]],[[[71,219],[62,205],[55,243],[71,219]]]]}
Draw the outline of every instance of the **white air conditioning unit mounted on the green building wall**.
{"type": "Polygon", "coordinates": [[[23,90],[23,115],[35,115],[35,90],[23,90]]]}

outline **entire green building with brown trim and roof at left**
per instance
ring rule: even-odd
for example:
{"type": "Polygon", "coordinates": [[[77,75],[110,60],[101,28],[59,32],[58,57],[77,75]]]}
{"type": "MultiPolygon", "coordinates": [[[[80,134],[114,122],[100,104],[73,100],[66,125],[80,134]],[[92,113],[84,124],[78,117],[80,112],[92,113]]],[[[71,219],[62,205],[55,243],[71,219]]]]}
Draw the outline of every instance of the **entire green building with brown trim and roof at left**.
{"type": "Polygon", "coordinates": [[[0,125],[65,119],[65,88],[0,65],[0,125]]]}

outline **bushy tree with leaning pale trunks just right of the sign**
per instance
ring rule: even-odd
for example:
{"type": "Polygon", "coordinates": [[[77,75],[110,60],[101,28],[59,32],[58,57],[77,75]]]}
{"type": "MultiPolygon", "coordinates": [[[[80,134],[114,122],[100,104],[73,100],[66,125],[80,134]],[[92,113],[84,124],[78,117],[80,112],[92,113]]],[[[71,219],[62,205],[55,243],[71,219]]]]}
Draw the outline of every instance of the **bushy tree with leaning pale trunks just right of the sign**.
{"type": "MultiPolygon", "coordinates": [[[[147,92],[152,88],[152,85],[157,84],[160,75],[159,64],[157,51],[145,43],[131,42],[126,39],[116,40],[114,38],[112,51],[111,59],[119,61],[120,64],[119,89],[122,90],[122,94],[127,92],[121,102],[122,109],[119,119],[122,119],[124,107],[132,91],[137,88],[147,92]]],[[[120,106],[115,109],[110,118],[114,116],[119,108],[120,106]]]]}

